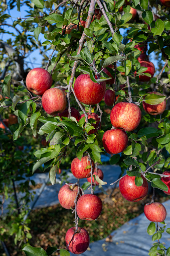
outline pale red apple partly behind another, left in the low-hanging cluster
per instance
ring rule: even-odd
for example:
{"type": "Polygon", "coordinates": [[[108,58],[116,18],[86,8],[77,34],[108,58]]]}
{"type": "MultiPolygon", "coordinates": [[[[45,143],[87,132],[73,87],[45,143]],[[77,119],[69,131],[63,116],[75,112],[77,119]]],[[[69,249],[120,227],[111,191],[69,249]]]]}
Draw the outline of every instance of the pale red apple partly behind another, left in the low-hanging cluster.
{"type": "MultiPolygon", "coordinates": [[[[78,186],[75,185],[72,186],[72,183],[65,184],[61,189],[59,190],[58,199],[62,207],[65,209],[73,209],[75,207],[75,199],[78,193],[78,186]]],[[[80,191],[81,195],[81,191],[80,191]]],[[[80,197],[78,196],[78,198],[80,197]]]]}

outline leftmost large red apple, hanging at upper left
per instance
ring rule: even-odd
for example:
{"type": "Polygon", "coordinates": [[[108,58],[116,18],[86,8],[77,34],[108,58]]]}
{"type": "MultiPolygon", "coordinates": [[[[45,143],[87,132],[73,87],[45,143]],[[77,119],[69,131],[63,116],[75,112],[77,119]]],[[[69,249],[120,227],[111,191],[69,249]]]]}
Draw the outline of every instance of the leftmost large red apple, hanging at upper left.
{"type": "Polygon", "coordinates": [[[33,68],[26,77],[28,90],[36,95],[43,95],[45,91],[51,88],[52,83],[51,74],[40,67],[33,68]]]}

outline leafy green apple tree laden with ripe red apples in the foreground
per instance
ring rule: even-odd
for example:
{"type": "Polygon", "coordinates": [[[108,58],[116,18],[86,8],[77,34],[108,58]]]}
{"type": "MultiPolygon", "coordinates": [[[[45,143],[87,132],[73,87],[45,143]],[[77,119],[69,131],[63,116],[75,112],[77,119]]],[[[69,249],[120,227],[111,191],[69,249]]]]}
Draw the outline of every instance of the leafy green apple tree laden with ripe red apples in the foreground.
{"type": "MultiPolygon", "coordinates": [[[[89,234],[78,220],[95,220],[102,211],[93,186],[104,186],[97,164],[101,154],[109,154],[110,164],[121,167],[119,188],[126,200],[140,201],[148,184],[153,188],[152,201],[144,208],[151,221],[148,234],[155,241],[149,255],[169,255],[170,247],[159,241],[164,230],[170,233],[166,210],[154,202],[154,188],[170,195],[169,0],[9,1],[2,2],[0,20],[2,33],[12,34],[0,41],[1,154],[9,139],[13,146],[32,132],[35,138],[45,137],[48,145],[34,152],[33,174],[44,165],[54,185],[59,168],[69,164],[77,182],[59,192],[61,205],[74,208],[75,214],[66,248],[79,254],[89,245],[89,234]],[[20,12],[25,6],[27,15],[13,17],[11,24],[10,11],[20,12]],[[42,65],[30,71],[25,59],[36,49],[43,56],[42,65]],[[17,116],[17,123],[8,127],[9,114],[17,116]],[[80,187],[84,178],[90,183],[80,187]],[[85,194],[88,187],[90,195],[85,194]]],[[[31,157],[31,152],[25,153],[31,157]]],[[[20,161],[20,156],[14,158],[20,161]]],[[[7,153],[4,172],[9,169],[6,158],[7,153]]],[[[30,175],[27,167],[24,172],[30,175]]],[[[3,175],[4,194],[5,179],[3,175]]],[[[23,250],[26,255],[51,255],[56,250],[66,255],[56,247],[44,251],[28,245],[23,250]]]]}

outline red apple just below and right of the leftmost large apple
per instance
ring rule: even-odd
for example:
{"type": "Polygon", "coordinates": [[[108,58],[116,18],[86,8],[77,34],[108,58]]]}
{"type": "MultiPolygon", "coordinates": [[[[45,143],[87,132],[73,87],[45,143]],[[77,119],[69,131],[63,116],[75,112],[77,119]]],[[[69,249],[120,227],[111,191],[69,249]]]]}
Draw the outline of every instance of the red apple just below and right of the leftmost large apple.
{"type": "Polygon", "coordinates": [[[62,90],[50,88],[43,94],[42,105],[47,114],[56,115],[66,109],[67,99],[62,90]]]}

